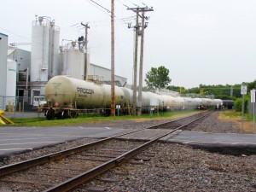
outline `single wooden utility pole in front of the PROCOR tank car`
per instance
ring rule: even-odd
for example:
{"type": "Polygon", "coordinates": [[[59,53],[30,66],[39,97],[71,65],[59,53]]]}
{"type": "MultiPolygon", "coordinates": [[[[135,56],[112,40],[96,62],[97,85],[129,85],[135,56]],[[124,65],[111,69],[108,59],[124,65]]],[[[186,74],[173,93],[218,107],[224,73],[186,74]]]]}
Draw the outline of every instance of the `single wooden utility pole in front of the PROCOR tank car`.
{"type": "Polygon", "coordinates": [[[111,0],[111,115],[115,116],[114,101],[114,0],[111,0]]]}

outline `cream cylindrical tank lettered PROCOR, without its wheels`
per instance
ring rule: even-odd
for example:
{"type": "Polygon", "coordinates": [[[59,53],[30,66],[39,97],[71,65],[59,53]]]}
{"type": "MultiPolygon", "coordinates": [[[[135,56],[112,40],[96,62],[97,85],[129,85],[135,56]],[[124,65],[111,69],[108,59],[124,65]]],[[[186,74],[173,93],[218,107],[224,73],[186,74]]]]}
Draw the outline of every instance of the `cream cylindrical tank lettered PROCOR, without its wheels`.
{"type": "MultiPolygon", "coordinates": [[[[69,106],[79,109],[110,108],[111,86],[108,84],[94,84],[84,80],[67,76],[55,76],[46,84],[45,97],[55,107],[69,106]]],[[[115,89],[115,103],[123,102],[124,92],[115,89]]]]}

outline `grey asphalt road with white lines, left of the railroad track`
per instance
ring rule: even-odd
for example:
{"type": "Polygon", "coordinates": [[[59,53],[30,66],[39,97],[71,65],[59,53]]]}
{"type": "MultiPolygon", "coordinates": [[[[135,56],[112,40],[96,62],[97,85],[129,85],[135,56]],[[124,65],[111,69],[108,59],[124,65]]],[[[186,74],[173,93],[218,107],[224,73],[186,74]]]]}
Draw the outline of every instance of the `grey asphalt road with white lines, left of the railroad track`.
{"type": "Polygon", "coordinates": [[[109,137],[124,129],[109,127],[54,126],[13,127],[0,126],[0,157],[64,143],[82,137],[109,137]]]}

